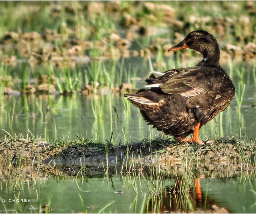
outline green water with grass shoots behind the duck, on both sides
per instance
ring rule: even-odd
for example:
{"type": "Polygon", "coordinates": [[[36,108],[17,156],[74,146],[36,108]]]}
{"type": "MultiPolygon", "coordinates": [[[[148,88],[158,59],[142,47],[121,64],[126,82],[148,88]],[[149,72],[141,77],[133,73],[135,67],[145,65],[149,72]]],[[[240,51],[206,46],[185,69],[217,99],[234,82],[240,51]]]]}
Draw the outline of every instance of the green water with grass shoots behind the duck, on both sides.
{"type": "MultiPolygon", "coordinates": [[[[234,98],[223,113],[203,126],[201,139],[234,136],[254,141],[256,108],[252,105],[255,103],[255,89],[246,86],[244,94],[247,97],[240,110],[234,98]]],[[[130,105],[127,110],[125,102],[123,95],[119,94],[5,96],[0,115],[0,137],[7,136],[6,132],[12,136],[32,133],[49,142],[78,140],[79,136],[119,144],[160,135],[160,132],[146,124],[135,106],[130,105]]]]}

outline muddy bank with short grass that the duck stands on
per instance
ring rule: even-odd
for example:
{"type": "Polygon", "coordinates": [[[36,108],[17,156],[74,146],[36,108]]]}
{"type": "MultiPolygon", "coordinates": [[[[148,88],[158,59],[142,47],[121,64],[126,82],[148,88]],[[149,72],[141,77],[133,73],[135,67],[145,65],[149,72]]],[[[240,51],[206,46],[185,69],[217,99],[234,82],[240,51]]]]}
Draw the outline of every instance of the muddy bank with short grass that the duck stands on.
{"type": "Polygon", "coordinates": [[[113,146],[90,142],[50,144],[19,138],[1,141],[0,165],[5,176],[12,171],[28,175],[77,175],[81,169],[86,176],[102,176],[107,167],[110,174],[161,168],[172,174],[192,169],[214,172],[215,176],[233,176],[241,170],[256,169],[255,149],[255,143],[228,139],[206,142],[203,146],[162,139],[113,146]]]}

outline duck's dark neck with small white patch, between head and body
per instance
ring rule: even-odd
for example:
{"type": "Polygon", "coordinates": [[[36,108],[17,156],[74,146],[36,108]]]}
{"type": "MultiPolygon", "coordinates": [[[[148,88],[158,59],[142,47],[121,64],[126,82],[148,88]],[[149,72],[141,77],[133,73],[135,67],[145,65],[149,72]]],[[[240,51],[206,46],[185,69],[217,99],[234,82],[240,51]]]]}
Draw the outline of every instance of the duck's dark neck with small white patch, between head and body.
{"type": "Polygon", "coordinates": [[[197,66],[215,66],[221,67],[219,64],[220,51],[219,47],[202,51],[203,60],[197,66]]]}

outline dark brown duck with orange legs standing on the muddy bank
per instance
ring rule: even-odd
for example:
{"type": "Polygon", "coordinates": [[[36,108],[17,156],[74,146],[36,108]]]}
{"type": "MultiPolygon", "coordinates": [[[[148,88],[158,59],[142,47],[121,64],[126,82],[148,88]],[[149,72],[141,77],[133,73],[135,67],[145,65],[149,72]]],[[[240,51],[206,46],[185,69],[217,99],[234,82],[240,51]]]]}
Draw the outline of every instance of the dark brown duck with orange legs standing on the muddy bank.
{"type": "Polygon", "coordinates": [[[225,110],[235,95],[234,84],[220,66],[220,49],[212,34],[190,32],[168,51],[193,49],[203,59],[194,67],[151,72],[146,86],[135,94],[124,94],[139,108],[148,125],[153,125],[175,140],[204,144],[199,130],[225,110]],[[193,134],[192,138],[187,138],[193,134]]]}

